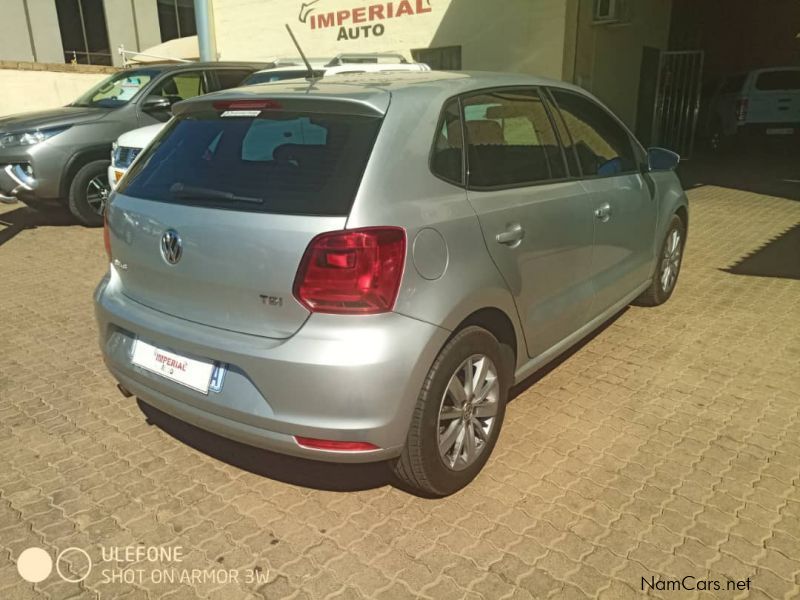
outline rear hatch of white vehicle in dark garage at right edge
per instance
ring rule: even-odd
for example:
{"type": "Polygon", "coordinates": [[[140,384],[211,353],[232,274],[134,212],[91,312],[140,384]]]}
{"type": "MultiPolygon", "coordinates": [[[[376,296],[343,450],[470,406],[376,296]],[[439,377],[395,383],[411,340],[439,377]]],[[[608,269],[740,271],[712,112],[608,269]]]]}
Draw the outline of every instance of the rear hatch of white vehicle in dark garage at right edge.
{"type": "Polygon", "coordinates": [[[800,69],[759,72],[748,100],[749,123],[800,124],[800,69]]]}

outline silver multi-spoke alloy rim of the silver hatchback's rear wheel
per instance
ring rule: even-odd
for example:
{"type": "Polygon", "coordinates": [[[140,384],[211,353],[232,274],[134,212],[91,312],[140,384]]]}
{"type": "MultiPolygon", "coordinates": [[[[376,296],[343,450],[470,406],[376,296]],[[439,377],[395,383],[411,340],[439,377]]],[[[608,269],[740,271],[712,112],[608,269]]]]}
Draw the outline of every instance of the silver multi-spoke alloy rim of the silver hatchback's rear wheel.
{"type": "Polygon", "coordinates": [[[486,449],[495,427],[500,398],[497,367],[473,354],[450,377],[439,406],[437,445],[445,466],[461,471],[486,449]]]}

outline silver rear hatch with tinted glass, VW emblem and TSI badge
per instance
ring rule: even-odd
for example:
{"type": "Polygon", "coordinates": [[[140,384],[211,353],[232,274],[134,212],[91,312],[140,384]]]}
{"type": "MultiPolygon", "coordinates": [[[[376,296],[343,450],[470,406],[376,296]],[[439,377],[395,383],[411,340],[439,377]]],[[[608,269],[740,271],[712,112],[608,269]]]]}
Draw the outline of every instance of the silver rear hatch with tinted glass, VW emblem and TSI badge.
{"type": "Polygon", "coordinates": [[[309,314],[292,294],[300,261],[317,234],[344,228],[385,106],[205,98],[178,110],[112,198],[122,293],[196,323],[289,337],[309,314]]]}

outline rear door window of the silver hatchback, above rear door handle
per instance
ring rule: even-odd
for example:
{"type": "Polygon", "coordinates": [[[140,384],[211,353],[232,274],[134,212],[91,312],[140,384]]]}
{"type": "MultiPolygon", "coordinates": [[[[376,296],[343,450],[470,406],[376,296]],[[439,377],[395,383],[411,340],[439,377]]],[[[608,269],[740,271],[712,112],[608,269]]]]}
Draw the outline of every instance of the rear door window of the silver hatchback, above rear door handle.
{"type": "Polygon", "coordinates": [[[495,92],[464,100],[469,184],[493,187],[566,176],[561,148],[534,91],[495,92]]]}

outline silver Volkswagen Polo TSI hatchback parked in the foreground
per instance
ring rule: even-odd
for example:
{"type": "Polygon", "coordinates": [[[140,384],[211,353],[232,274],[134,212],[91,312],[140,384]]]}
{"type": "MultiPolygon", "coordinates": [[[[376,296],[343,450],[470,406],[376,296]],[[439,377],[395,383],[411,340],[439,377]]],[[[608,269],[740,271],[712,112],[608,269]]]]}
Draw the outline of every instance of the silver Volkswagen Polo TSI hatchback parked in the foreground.
{"type": "Polygon", "coordinates": [[[219,435],[451,494],[515,382],[675,288],[677,155],[569,84],[361,74],[174,112],[107,209],[100,345],[126,396],[219,435]]]}

